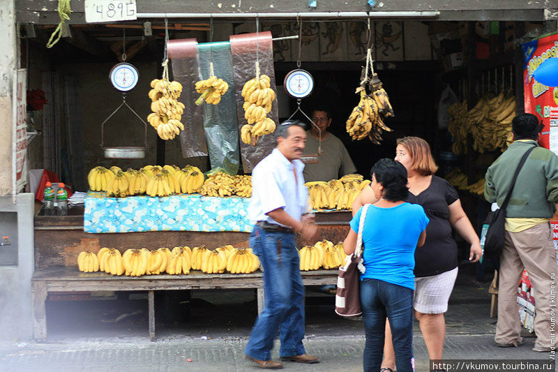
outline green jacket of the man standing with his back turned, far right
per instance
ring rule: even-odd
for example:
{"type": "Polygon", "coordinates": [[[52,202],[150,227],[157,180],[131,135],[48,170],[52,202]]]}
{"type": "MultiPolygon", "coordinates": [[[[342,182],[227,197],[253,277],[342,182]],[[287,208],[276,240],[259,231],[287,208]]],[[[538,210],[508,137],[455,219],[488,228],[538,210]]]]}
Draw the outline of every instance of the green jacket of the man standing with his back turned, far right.
{"type": "Polygon", "coordinates": [[[552,218],[558,203],[558,158],[535,141],[514,141],[486,172],[484,197],[504,203],[511,179],[525,151],[537,145],[523,165],[511,193],[507,218],[552,218]]]}

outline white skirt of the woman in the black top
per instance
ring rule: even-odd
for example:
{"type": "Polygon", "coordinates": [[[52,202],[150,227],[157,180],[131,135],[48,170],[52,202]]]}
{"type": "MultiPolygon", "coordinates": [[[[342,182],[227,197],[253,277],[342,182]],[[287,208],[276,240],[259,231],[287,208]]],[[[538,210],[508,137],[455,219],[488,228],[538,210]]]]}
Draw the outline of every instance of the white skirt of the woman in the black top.
{"type": "Polygon", "coordinates": [[[448,311],[448,300],[458,276],[458,268],[433,276],[414,278],[416,311],[423,314],[442,314],[448,311]]]}

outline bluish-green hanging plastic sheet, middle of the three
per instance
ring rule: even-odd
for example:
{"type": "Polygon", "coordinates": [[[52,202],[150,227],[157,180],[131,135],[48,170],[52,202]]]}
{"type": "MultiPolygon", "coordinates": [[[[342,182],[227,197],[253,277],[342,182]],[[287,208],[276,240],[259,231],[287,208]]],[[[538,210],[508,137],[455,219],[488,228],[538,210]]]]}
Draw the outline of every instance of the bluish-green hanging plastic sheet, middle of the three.
{"type": "Polygon", "coordinates": [[[232,73],[230,43],[204,43],[197,45],[200,80],[213,74],[225,80],[229,89],[218,105],[203,103],[204,128],[211,168],[223,168],[230,174],[239,172],[239,124],[236,121],[236,99],[232,73]]]}

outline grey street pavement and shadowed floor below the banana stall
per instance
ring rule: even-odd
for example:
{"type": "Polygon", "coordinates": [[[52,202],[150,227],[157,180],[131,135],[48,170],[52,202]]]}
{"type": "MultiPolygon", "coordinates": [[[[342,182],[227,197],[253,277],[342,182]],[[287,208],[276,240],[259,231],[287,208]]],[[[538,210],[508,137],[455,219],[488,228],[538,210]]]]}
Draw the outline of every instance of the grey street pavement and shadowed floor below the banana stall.
{"type": "MultiPolygon", "coordinates": [[[[0,371],[261,371],[243,357],[255,320],[252,292],[194,292],[190,312],[174,321],[165,320],[165,305],[160,305],[154,342],[146,330],[145,301],[142,295],[135,298],[49,302],[49,338],[0,342],[0,371]]],[[[318,288],[307,289],[306,303],[304,344],[321,363],[284,362],[285,371],[362,371],[361,320],[333,315],[333,297],[318,288]]],[[[527,331],[525,345],[497,348],[489,309],[488,283],[478,285],[460,274],[446,313],[444,359],[549,359],[549,353],[531,350],[534,336],[527,331]]],[[[416,371],[429,371],[418,322],[413,347],[416,371]]],[[[273,359],[278,360],[278,341],[273,359]]]]}

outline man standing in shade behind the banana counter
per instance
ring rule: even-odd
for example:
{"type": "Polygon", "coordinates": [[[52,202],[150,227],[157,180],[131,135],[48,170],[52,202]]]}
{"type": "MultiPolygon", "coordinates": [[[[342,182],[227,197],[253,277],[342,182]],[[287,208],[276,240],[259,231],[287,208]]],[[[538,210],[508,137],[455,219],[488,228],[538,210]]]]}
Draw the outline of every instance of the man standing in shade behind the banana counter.
{"type": "Polygon", "coordinates": [[[318,156],[318,163],[306,164],[304,180],[306,182],[329,181],[356,172],[356,167],[343,142],[328,131],[329,126],[331,126],[330,112],[324,107],[317,107],[312,111],[310,119],[312,119],[313,124],[310,123],[308,129],[304,153],[317,154],[321,137],[322,154],[318,156]]]}

